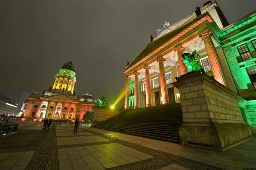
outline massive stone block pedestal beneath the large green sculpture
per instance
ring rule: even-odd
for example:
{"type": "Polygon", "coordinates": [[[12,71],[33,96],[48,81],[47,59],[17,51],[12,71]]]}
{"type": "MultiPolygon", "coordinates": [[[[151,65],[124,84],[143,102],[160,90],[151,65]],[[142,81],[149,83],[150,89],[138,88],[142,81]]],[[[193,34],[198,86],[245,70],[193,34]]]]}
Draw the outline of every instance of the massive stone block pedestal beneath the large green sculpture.
{"type": "Polygon", "coordinates": [[[176,79],[173,85],[179,89],[183,115],[182,144],[224,151],[253,138],[239,109],[239,95],[200,71],[176,79]]]}

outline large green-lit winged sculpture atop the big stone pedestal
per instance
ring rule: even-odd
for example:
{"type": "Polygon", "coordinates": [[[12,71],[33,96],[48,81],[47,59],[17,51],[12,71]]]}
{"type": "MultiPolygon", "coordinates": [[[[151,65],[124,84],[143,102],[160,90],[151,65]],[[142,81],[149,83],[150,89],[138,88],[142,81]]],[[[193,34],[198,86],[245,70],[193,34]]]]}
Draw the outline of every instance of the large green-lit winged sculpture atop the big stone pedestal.
{"type": "Polygon", "coordinates": [[[199,58],[200,55],[196,54],[196,50],[190,53],[184,53],[182,55],[182,61],[185,64],[185,66],[189,69],[189,72],[198,71],[203,69],[203,66],[201,66],[200,62],[196,60],[196,58],[199,58]]]}

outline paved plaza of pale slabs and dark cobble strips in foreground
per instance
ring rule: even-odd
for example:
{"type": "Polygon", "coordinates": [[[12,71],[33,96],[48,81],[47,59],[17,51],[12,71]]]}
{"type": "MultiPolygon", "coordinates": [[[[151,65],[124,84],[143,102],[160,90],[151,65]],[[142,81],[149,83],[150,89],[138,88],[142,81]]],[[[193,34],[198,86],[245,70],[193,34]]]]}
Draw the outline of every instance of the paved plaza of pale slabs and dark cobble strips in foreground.
{"type": "Polygon", "coordinates": [[[115,133],[88,125],[20,122],[0,138],[0,170],[253,170],[256,139],[217,152],[115,133]]]}

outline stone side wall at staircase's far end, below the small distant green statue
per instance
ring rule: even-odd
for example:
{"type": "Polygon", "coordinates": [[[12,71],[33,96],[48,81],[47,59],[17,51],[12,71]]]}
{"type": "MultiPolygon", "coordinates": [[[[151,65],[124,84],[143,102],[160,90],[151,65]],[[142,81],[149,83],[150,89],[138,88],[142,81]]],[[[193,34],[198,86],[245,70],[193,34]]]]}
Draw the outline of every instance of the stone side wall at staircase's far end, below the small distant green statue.
{"type": "Polygon", "coordinates": [[[94,114],[92,115],[92,127],[96,126],[97,124],[101,124],[102,122],[112,118],[115,115],[118,115],[123,111],[121,109],[111,109],[110,107],[96,106],[94,108],[94,114]]]}

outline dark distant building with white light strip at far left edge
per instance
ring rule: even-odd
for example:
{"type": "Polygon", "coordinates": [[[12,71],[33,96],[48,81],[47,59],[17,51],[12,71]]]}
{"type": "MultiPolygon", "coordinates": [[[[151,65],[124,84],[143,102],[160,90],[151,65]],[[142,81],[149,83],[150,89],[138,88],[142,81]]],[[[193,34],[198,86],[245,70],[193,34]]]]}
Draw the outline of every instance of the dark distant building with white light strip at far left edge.
{"type": "Polygon", "coordinates": [[[16,101],[0,93],[0,115],[18,115],[16,101]]]}

